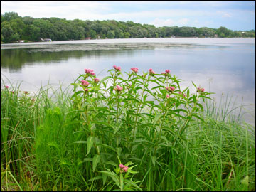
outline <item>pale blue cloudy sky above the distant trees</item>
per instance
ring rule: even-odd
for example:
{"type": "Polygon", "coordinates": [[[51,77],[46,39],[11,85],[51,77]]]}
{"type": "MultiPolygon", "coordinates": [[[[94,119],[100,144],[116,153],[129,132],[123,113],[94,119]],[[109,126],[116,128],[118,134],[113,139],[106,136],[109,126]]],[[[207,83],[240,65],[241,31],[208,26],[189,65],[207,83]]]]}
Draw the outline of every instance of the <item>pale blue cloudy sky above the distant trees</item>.
{"type": "Polygon", "coordinates": [[[255,30],[255,1],[1,1],[1,14],[255,30]]]}

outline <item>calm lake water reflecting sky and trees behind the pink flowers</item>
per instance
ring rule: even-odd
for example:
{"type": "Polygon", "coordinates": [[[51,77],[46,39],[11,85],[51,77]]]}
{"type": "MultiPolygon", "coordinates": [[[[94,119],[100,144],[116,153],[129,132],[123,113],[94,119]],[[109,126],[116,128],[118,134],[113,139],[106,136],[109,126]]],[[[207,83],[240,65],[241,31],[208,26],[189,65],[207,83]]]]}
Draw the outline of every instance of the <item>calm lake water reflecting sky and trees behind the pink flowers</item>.
{"type": "MultiPolygon", "coordinates": [[[[246,121],[255,124],[255,38],[132,38],[1,45],[1,78],[22,82],[21,90],[34,92],[50,82],[70,85],[85,68],[97,78],[113,65],[139,73],[171,70],[183,79],[183,88],[196,85],[206,91],[237,97],[254,111],[246,121]]],[[[8,85],[9,82],[6,82],[8,85]]],[[[1,88],[4,88],[1,82],[1,88]]],[[[195,90],[194,90],[195,91],[195,90]]]]}

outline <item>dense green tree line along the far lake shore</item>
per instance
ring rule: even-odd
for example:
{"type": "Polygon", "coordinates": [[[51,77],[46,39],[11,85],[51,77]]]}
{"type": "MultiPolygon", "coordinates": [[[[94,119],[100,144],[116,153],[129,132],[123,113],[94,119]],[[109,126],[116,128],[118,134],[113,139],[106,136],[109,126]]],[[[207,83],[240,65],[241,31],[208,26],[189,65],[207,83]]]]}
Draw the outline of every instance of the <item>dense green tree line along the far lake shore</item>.
{"type": "Polygon", "coordinates": [[[18,40],[40,41],[51,38],[53,41],[82,40],[85,38],[165,38],[165,37],[255,37],[255,30],[232,31],[220,28],[196,28],[163,26],[134,23],[133,21],[82,21],[65,18],[32,18],[18,16],[15,12],[1,14],[1,43],[14,43],[18,40]]]}

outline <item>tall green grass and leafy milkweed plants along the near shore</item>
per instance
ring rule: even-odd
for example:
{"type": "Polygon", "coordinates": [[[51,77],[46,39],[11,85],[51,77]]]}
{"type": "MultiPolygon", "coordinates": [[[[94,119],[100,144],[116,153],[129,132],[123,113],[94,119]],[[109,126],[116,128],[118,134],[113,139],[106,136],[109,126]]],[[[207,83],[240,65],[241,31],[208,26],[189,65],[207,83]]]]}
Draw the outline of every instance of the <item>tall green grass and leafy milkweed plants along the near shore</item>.
{"type": "Polygon", "coordinates": [[[1,191],[255,191],[255,127],[228,97],[169,73],[94,78],[1,90],[1,191]]]}

